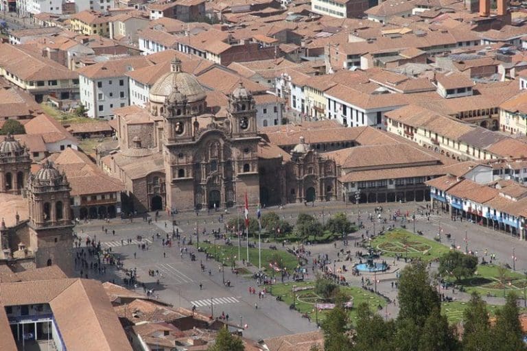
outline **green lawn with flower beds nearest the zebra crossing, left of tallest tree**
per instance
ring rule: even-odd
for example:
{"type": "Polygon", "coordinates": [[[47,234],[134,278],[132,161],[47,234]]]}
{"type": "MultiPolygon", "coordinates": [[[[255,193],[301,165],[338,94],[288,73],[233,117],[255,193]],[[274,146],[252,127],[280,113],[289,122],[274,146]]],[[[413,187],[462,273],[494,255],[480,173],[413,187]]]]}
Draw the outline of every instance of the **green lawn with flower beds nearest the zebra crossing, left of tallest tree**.
{"type": "MultiPolygon", "coordinates": [[[[283,303],[285,304],[284,308],[289,308],[293,304],[293,285],[296,287],[312,287],[314,282],[289,282],[284,284],[275,284],[272,287],[268,288],[268,291],[273,296],[281,296],[283,303]]],[[[386,300],[375,293],[371,293],[359,287],[340,287],[341,291],[347,293],[347,295],[353,296],[353,308],[349,311],[349,317],[351,323],[354,324],[355,319],[357,319],[357,306],[362,304],[362,302],[367,302],[371,308],[371,311],[377,311],[379,304],[381,306],[386,305],[386,300]]],[[[296,309],[300,313],[307,313],[313,322],[316,319],[316,311],[314,311],[315,300],[318,299],[318,295],[310,289],[303,291],[296,291],[296,309]]],[[[320,303],[320,301],[318,301],[320,303]]],[[[318,321],[323,320],[325,315],[329,310],[324,310],[318,312],[318,321]]]]}

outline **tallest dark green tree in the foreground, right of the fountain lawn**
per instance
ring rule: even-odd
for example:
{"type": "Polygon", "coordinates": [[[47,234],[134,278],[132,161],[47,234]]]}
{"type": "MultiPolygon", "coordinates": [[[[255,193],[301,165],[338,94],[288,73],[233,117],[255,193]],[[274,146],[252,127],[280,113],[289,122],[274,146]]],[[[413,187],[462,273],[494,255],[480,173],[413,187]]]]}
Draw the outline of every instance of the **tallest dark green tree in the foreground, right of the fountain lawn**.
{"type": "Polygon", "coordinates": [[[412,263],[401,271],[399,281],[399,319],[413,319],[423,326],[430,313],[441,310],[439,295],[431,286],[430,277],[423,262],[412,263]]]}

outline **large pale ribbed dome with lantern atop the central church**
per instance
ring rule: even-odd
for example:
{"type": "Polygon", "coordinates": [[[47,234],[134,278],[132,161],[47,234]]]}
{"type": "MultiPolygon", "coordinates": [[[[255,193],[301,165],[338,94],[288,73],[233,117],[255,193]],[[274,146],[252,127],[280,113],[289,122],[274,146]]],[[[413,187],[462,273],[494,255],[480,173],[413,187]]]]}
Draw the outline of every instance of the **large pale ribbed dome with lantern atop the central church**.
{"type": "Polygon", "coordinates": [[[178,88],[179,93],[187,97],[187,101],[194,102],[204,100],[207,97],[200,82],[189,73],[181,71],[181,61],[173,60],[169,73],[162,75],[150,88],[150,101],[163,104],[174,90],[178,88]]]}

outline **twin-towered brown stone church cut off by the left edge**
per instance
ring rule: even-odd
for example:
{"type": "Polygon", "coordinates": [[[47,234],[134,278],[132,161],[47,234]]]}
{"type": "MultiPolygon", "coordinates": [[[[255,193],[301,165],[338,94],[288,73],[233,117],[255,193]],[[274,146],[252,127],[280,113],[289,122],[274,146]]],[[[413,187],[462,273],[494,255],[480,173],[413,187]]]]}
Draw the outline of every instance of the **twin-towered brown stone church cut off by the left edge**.
{"type": "Polygon", "coordinates": [[[73,274],[73,223],[65,174],[46,162],[31,173],[29,150],[0,143],[0,265],[12,271],[58,265],[73,274]]]}

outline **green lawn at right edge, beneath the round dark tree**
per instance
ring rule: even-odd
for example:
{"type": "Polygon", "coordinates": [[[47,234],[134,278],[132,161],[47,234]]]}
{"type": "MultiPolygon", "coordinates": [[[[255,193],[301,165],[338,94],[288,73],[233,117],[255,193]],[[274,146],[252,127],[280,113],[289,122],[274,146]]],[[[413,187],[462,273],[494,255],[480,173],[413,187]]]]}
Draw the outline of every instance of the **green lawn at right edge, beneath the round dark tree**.
{"type": "Polygon", "coordinates": [[[503,282],[500,282],[500,273],[496,265],[479,265],[476,274],[471,278],[464,278],[456,282],[454,278],[447,279],[462,285],[467,293],[477,291],[480,295],[491,294],[503,298],[507,293],[515,291],[516,295],[524,295],[527,286],[526,276],[510,269],[504,270],[503,282]]]}

